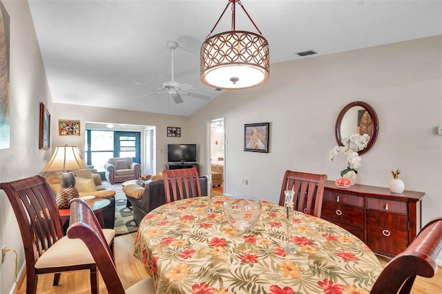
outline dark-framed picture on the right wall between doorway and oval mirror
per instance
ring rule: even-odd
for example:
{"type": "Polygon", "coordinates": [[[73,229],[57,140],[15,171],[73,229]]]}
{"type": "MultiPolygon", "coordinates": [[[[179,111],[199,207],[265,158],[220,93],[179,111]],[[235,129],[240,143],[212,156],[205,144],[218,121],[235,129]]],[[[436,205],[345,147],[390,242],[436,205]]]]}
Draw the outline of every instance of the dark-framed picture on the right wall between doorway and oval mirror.
{"type": "Polygon", "coordinates": [[[270,123],[244,124],[244,151],[269,153],[270,123]]]}

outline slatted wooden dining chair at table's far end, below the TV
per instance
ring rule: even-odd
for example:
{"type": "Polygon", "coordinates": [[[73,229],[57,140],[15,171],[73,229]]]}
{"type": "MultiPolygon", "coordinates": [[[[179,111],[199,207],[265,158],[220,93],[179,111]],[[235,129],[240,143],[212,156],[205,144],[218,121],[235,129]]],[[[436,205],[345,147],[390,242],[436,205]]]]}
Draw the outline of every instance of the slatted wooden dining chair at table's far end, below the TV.
{"type": "Polygon", "coordinates": [[[166,203],[201,195],[200,177],[196,168],[163,170],[166,203]]]}

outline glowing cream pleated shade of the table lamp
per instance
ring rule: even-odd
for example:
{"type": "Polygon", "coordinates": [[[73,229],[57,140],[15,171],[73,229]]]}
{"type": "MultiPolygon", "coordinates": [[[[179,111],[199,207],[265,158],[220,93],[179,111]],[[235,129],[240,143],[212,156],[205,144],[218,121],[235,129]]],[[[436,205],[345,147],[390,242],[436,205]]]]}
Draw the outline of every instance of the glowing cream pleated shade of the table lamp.
{"type": "Polygon", "coordinates": [[[79,153],[77,146],[56,146],[48,164],[41,170],[44,172],[61,170],[78,170],[88,168],[79,153]]]}

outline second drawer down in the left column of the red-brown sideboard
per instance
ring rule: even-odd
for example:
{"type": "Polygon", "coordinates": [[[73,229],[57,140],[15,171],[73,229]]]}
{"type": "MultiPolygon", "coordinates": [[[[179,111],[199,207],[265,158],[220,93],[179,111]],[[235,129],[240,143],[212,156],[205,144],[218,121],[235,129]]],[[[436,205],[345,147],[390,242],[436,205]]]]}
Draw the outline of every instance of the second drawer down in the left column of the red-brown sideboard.
{"type": "Polygon", "coordinates": [[[363,208],[323,201],[321,216],[354,226],[364,226],[363,208]]]}

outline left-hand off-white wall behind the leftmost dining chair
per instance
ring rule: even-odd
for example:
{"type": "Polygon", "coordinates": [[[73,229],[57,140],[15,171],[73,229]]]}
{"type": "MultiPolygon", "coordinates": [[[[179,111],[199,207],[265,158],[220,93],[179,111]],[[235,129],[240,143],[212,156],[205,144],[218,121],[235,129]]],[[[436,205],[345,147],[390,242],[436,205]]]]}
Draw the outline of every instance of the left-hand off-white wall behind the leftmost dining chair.
{"type": "MultiPolygon", "coordinates": [[[[39,109],[51,112],[52,100],[27,1],[2,1],[10,16],[10,148],[0,150],[0,182],[37,175],[50,150],[39,149],[39,109]]],[[[0,246],[19,253],[23,244],[8,197],[0,190],[0,246]]],[[[0,293],[9,293],[15,280],[15,255],[6,253],[0,265],[0,293]]]]}

